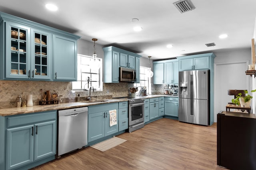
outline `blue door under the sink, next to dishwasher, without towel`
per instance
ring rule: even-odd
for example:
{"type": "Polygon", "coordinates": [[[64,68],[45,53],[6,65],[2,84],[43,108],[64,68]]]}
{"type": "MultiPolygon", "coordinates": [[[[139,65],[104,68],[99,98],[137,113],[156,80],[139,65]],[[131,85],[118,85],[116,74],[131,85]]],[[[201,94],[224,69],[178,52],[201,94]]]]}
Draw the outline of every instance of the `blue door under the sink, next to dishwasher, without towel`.
{"type": "Polygon", "coordinates": [[[88,114],[88,142],[105,136],[105,112],[88,114]]]}

